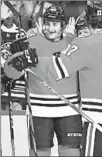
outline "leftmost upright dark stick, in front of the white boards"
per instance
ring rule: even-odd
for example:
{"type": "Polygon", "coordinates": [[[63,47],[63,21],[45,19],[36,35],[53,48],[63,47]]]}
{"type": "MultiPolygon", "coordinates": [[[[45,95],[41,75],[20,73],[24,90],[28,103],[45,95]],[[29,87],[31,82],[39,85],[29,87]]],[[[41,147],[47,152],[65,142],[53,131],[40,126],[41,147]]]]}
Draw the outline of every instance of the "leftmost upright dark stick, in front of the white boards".
{"type": "Polygon", "coordinates": [[[10,122],[12,156],[15,156],[14,129],[13,129],[13,109],[12,109],[12,101],[11,101],[11,86],[12,86],[12,81],[8,83],[8,97],[9,97],[9,122],[10,122]]]}

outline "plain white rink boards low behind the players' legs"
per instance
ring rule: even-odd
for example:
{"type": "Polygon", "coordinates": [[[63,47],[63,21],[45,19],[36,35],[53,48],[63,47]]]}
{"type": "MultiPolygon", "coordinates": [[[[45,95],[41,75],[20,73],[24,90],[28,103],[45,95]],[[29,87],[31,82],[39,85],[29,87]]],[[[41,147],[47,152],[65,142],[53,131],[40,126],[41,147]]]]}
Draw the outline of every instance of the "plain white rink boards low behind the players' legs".
{"type": "MultiPolygon", "coordinates": [[[[15,156],[33,156],[33,151],[30,151],[29,147],[27,116],[25,111],[20,111],[18,114],[19,111],[16,111],[13,115],[15,156]]],[[[56,136],[54,136],[54,145],[51,156],[58,156],[56,136]]],[[[2,156],[12,156],[10,122],[7,111],[2,111],[1,114],[1,149],[2,156]]]]}

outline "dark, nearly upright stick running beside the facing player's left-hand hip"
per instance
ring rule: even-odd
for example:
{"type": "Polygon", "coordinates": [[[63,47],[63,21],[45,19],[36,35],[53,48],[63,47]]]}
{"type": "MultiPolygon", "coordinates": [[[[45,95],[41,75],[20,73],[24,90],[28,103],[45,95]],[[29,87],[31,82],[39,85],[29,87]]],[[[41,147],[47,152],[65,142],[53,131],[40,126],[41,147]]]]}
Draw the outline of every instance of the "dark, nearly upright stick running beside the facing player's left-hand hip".
{"type": "Polygon", "coordinates": [[[37,157],[36,142],[35,142],[35,135],[34,135],[34,126],[33,126],[33,117],[32,117],[32,109],[31,109],[31,104],[30,104],[29,86],[28,86],[28,80],[27,80],[27,73],[26,72],[25,72],[25,83],[26,83],[25,96],[26,96],[26,102],[27,102],[27,107],[28,107],[28,111],[29,111],[29,115],[28,115],[29,124],[28,125],[30,126],[30,128],[28,127],[28,130],[30,129],[30,131],[31,131],[33,151],[34,151],[34,155],[37,157]]]}

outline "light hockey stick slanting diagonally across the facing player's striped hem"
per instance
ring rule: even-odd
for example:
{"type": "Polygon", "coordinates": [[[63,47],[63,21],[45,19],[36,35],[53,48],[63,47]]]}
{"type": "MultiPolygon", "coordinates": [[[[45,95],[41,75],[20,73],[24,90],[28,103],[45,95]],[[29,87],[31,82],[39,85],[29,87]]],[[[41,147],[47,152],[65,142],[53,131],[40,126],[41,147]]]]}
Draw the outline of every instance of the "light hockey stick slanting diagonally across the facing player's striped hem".
{"type": "Polygon", "coordinates": [[[67,105],[72,107],[77,113],[79,113],[81,116],[83,116],[86,120],[88,120],[90,123],[94,124],[94,126],[102,133],[102,127],[97,122],[95,122],[93,119],[91,119],[89,116],[87,116],[82,110],[80,110],[79,108],[74,106],[73,103],[71,103],[69,100],[67,100],[63,95],[56,92],[55,89],[50,87],[45,81],[43,81],[33,71],[31,71],[30,69],[26,69],[25,71],[30,72],[31,74],[33,74],[41,84],[43,84],[45,87],[47,87],[52,93],[54,93],[57,97],[59,97],[61,100],[63,100],[67,105]]]}

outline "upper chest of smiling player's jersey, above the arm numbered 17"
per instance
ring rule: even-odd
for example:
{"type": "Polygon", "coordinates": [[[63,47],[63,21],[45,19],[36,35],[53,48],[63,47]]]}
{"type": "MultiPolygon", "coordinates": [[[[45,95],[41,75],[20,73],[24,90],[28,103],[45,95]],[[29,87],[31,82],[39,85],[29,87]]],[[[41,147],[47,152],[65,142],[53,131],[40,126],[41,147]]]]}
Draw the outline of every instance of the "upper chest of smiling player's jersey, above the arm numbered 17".
{"type": "Polygon", "coordinates": [[[55,52],[63,51],[75,39],[75,35],[67,35],[62,40],[51,42],[41,33],[29,39],[30,47],[35,48],[38,56],[51,56],[55,52]]]}

